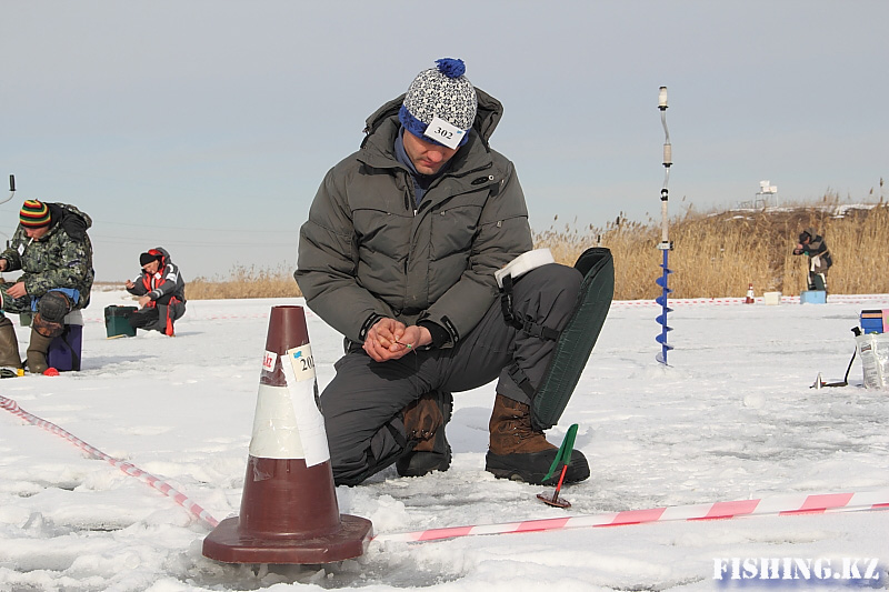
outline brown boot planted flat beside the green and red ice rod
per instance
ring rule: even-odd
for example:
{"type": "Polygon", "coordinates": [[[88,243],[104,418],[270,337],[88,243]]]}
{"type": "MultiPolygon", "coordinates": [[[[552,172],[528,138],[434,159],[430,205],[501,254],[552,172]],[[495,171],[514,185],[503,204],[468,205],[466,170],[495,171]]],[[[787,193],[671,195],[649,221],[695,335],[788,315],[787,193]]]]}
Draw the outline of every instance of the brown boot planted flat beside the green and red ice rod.
{"type": "MultiPolygon", "coordinates": [[[[485,456],[486,471],[497,478],[538,485],[558,481],[557,472],[543,482],[559,449],[547,442],[542,431],[533,429],[529,405],[498,394],[493,401],[488,430],[490,445],[485,456]]],[[[590,468],[586,456],[579,450],[572,451],[565,474],[566,483],[583,481],[589,475],[590,468]]]]}

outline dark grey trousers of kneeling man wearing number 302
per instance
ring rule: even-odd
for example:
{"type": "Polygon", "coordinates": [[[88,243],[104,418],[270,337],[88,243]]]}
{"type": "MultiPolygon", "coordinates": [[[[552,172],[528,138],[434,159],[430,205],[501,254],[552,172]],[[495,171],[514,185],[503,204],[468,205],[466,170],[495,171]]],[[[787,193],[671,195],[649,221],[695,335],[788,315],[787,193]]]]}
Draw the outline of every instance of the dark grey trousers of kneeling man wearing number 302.
{"type": "MultiPolygon", "coordinates": [[[[575,309],[581,281],[573,268],[556,263],[537,268],[516,282],[513,310],[561,330],[575,309]]],[[[498,299],[453,348],[419,350],[388,362],[376,362],[360,347],[352,348],[334,364],[337,374],[321,393],[334,482],[358,484],[409,450],[400,411],[427,392],[468,391],[499,377],[499,394],[530,404],[510,378],[509,367],[518,363],[536,387],[553,345],[507,324],[498,299]]]]}

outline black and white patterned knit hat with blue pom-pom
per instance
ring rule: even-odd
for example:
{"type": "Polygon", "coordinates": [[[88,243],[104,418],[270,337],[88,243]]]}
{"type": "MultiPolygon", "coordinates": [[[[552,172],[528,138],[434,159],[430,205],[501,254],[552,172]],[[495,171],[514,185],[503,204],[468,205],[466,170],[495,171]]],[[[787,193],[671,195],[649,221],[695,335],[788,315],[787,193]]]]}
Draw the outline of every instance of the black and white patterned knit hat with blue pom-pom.
{"type": "MultiPolygon", "coordinates": [[[[442,58],[436,60],[436,68],[417,74],[398,113],[404,129],[423,138],[429,123],[438,117],[459,130],[469,131],[476,120],[478,98],[465,72],[463,60],[442,58]]],[[[460,144],[468,138],[469,134],[465,134],[460,144]]]]}

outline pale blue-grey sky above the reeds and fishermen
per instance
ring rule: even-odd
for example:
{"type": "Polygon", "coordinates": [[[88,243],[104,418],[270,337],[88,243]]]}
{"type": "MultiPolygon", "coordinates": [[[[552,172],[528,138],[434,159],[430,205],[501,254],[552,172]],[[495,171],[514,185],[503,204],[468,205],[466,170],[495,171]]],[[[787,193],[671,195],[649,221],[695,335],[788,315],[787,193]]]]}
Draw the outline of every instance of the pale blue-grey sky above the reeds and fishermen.
{"type": "Polygon", "coordinates": [[[24,199],[74,203],[100,280],[156,245],[187,279],[292,268],[323,174],[441,57],[503,102],[536,230],[660,219],[661,86],[671,213],[889,178],[883,0],[6,0],[0,22],[0,239],[24,199]]]}

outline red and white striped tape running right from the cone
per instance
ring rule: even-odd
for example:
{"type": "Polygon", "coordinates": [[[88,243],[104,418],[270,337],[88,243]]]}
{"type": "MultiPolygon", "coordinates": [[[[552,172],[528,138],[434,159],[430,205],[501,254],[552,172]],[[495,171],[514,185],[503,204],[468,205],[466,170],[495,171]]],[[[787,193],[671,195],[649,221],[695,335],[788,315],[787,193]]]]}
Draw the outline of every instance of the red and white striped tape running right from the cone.
{"type": "Polygon", "coordinates": [[[513,532],[541,532],[591,526],[627,526],[649,522],[701,521],[755,515],[795,515],[832,512],[889,510],[889,490],[857,493],[823,493],[811,495],[776,495],[759,500],[740,500],[697,505],[675,505],[648,510],[628,510],[605,514],[450,526],[416,532],[379,534],[378,542],[424,542],[479,534],[507,534],[513,532]]]}

